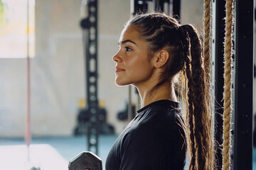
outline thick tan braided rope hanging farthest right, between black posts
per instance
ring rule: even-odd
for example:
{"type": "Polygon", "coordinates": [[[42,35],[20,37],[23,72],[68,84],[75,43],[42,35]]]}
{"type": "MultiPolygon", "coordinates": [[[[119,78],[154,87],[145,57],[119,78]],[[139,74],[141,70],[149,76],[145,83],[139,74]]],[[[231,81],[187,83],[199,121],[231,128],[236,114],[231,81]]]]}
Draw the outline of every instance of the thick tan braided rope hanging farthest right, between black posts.
{"type": "Polygon", "coordinates": [[[223,113],[223,170],[230,169],[230,119],[231,119],[231,74],[232,74],[232,30],[233,30],[233,0],[225,4],[225,41],[224,41],[224,113],[223,113]]]}

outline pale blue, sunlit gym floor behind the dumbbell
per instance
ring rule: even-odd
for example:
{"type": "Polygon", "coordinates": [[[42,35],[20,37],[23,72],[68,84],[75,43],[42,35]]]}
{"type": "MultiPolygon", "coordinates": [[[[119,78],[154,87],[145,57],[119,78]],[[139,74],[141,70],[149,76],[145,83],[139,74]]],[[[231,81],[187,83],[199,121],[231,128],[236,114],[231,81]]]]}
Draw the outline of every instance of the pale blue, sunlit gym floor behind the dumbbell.
{"type": "MultiPolygon", "coordinates": [[[[100,135],[99,154],[103,169],[107,154],[117,135],[100,135]]],[[[85,136],[78,137],[33,137],[30,147],[31,164],[41,170],[68,170],[68,162],[86,151],[85,136]]],[[[26,169],[27,147],[23,138],[0,139],[0,169],[26,169]],[[23,167],[24,168],[21,168],[23,167]]],[[[256,170],[256,148],[253,148],[252,169],[256,170]]]]}

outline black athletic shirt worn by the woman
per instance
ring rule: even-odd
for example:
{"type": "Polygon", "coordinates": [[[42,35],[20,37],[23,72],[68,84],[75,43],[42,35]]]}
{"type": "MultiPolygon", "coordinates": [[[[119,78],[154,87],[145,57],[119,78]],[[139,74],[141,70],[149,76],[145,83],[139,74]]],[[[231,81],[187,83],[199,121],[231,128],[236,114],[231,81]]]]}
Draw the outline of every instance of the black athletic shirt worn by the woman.
{"type": "Polygon", "coordinates": [[[137,111],[110,149],[106,170],[183,169],[185,160],[181,108],[161,100],[137,111]]]}

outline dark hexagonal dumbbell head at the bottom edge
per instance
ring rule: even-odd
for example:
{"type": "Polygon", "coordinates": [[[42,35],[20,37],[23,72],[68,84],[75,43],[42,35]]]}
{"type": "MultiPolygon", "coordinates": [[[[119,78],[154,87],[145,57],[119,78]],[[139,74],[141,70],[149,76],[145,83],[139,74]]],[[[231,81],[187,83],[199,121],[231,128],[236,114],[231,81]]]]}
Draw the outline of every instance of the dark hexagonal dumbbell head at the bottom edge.
{"type": "Polygon", "coordinates": [[[102,170],[102,160],[92,152],[81,152],[70,160],[68,170],[102,170]]]}

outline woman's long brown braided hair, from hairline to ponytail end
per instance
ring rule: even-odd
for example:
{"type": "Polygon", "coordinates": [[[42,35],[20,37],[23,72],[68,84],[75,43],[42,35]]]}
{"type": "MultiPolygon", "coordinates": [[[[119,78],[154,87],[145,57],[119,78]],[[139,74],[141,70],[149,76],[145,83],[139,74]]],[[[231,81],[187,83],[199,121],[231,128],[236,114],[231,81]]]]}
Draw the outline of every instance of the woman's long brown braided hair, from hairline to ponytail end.
{"type": "MultiPolygon", "coordinates": [[[[127,26],[137,29],[140,38],[148,44],[148,55],[165,49],[169,60],[160,81],[151,91],[166,81],[174,81],[183,75],[181,96],[186,101],[186,131],[191,156],[189,169],[213,169],[214,140],[210,93],[206,91],[206,75],[203,68],[201,40],[191,25],[180,25],[176,19],[164,13],[137,14],[127,26]]],[[[173,82],[174,83],[174,82],[173,82]]]]}

